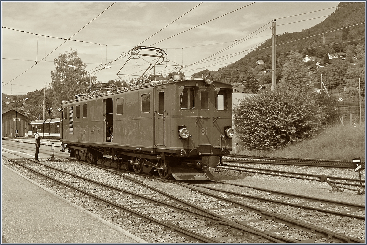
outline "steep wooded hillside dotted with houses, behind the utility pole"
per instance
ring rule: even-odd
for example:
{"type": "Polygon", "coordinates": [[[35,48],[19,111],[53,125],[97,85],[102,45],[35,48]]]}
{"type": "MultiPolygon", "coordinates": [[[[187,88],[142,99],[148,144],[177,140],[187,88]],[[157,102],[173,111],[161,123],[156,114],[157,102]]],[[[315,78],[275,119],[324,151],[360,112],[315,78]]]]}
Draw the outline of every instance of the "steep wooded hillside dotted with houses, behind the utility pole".
{"type": "MultiPolygon", "coordinates": [[[[323,82],[328,89],[340,91],[345,87],[355,88],[358,78],[361,78],[361,87],[364,88],[364,4],[339,3],[337,10],[319,24],[301,32],[278,34],[277,81],[298,79],[298,83],[314,84],[320,82],[320,74],[323,74],[323,82]],[[305,57],[312,59],[299,62],[305,57]],[[295,58],[298,59],[297,62],[294,62],[295,58]],[[281,80],[284,74],[286,77],[281,80]],[[291,77],[290,74],[297,76],[291,77]]],[[[271,60],[272,40],[269,39],[238,61],[210,73],[214,80],[241,84],[246,81],[248,73],[252,72],[258,79],[258,85],[246,91],[251,92],[256,86],[259,88],[263,84],[271,83],[271,60]],[[258,60],[264,64],[258,65],[258,60]]],[[[201,77],[204,72],[209,70],[200,71],[193,76],[201,77]]],[[[353,94],[355,89],[349,90],[353,94]]]]}

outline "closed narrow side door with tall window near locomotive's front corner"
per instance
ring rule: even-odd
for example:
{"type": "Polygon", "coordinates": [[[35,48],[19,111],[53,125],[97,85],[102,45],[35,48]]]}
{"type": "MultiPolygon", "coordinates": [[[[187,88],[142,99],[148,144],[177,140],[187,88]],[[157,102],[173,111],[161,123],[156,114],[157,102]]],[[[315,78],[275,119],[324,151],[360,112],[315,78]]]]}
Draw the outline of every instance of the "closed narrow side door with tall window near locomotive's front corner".
{"type": "Polygon", "coordinates": [[[157,96],[155,96],[155,138],[156,146],[166,146],[166,88],[157,89],[157,96]]]}

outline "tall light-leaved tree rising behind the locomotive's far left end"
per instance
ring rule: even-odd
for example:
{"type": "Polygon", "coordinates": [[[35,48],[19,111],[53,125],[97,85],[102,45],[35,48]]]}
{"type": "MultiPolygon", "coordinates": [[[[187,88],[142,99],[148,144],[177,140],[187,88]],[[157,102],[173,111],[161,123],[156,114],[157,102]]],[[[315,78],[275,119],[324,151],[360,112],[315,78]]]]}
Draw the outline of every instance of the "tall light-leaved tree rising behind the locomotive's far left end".
{"type": "MultiPolygon", "coordinates": [[[[55,105],[61,104],[62,100],[70,100],[74,95],[86,90],[90,83],[90,74],[86,70],[87,65],[81,61],[78,51],[70,48],[60,54],[58,59],[54,59],[55,70],[51,71],[51,87],[55,93],[55,105]],[[73,65],[79,69],[68,67],[73,65]],[[80,70],[82,69],[82,70],[80,70]]],[[[92,76],[91,82],[95,82],[97,77],[92,76]]]]}

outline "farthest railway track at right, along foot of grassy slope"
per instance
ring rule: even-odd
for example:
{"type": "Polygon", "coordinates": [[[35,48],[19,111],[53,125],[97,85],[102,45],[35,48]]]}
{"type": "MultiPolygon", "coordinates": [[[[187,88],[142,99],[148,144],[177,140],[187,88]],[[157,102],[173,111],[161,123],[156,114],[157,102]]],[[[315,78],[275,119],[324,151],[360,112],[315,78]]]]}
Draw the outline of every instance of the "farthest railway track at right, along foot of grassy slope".
{"type": "MultiPolygon", "coordinates": [[[[265,164],[286,164],[286,165],[302,165],[302,166],[317,166],[317,167],[338,167],[338,168],[353,168],[353,162],[341,160],[325,160],[325,159],[309,159],[309,158],[290,158],[290,157],[263,157],[230,154],[223,157],[226,162],[243,162],[243,163],[265,163],[265,164]]],[[[361,162],[364,167],[364,162],[361,162]]]]}

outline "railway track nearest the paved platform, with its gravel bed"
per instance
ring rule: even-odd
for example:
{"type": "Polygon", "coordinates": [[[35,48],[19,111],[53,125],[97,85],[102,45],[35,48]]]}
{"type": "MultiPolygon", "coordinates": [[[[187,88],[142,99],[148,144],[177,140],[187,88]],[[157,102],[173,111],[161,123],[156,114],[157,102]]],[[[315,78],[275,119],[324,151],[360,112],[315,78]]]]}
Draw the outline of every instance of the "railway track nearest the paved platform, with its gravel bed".
{"type": "MultiPolygon", "coordinates": [[[[169,195],[161,191],[153,190],[152,187],[145,188],[143,194],[138,194],[30,160],[26,164],[14,160],[10,161],[34,173],[56,181],[74,190],[73,192],[89,195],[95,200],[112,205],[115,209],[121,209],[122,211],[116,211],[116,213],[123,212],[119,216],[130,216],[129,214],[133,214],[138,219],[154,222],[167,230],[175,230],[181,237],[185,237],[186,242],[217,243],[228,240],[232,242],[285,242],[284,239],[270,237],[261,231],[258,232],[251,228],[243,227],[214,213],[207,212],[200,207],[178,200],[177,198],[169,197],[169,195]],[[55,175],[58,177],[55,178],[55,175]],[[100,193],[108,194],[104,195],[100,193]],[[163,201],[160,199],[163,199],[163,201]],[[192,221],[189,222],[189,226],[179,226],[181,223],[186,223],[187,220],[192,221]],[[197,224],[200,224],[200,226],[197,224]],[[192,226],[196,227],[192,228],[192,226]]],[[[89,166],[89,168],[98,169],[95,166],[89,166]]],[[[99,171],[105,170],[99,169],[99,171]]],[[[112,172],[110,174],[115,176],[115,178],[111,179],[116,180],[117,174],[112,172]]],[[[122,183],[124,187],[128,186],[132,190],[141,190],[141,181],[134,180],[131,177],[126,178],[126,176],[120,176],[120,179],[128,180],[122,183]]]]}

